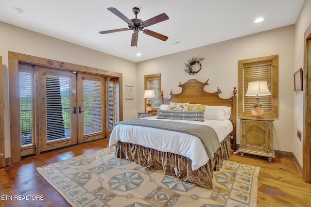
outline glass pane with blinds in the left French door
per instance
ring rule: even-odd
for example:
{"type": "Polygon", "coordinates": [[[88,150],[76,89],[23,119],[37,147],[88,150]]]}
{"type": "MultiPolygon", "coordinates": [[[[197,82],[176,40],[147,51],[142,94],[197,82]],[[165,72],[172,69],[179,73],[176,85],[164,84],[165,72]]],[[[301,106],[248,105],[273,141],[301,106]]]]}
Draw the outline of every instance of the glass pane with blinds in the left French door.
{"type": "Polygon", "coordinates": [[[70,137],[70,78],[46,76],[47,140],[70,137]]]}

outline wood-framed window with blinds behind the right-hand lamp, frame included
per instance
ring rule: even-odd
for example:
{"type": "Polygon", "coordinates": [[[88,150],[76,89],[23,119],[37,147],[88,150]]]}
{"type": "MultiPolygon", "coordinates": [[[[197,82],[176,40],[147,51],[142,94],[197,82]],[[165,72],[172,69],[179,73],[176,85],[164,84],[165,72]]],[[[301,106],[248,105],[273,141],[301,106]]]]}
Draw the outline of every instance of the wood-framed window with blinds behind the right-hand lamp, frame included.
{"type": "Polygon", "coordinates": [[[239,63],[239,116],[251,116],[255,98],[245,96],[248,82],[266,80],[270,96],[260,96],[259,103],[267,117],[278,114],[278,55],[240,60],[239,63]]]}

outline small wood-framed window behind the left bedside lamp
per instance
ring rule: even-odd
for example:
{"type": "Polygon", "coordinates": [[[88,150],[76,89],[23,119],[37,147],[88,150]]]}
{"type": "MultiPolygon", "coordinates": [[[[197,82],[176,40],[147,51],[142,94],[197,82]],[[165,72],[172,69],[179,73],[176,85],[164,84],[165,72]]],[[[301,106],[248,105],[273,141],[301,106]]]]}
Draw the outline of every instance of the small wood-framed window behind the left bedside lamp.
{"type": "MultiPolygon", "coordinates": [[[[145,90],[155,90],[155,98],[151,100],[152,109],[157,110],[161,105],[161,73],[145,76],[145,90]]],[[[147,100],[145,100],[145,106],[147,100]]]]}

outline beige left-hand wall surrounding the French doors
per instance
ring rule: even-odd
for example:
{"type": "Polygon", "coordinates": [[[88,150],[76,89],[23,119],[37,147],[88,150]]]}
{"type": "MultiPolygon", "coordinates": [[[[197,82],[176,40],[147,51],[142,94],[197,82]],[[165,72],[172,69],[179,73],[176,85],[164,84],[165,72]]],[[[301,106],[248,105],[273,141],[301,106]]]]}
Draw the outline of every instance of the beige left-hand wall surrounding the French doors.
{"type": "MultiPolygon", "coordinates": [[[[6,158],[11,157],[8,51],[119,72],[123,74],[123,91],[124,85],[130,83],[134,86],[134,89],[137,88],[136,63],[3,22],[0,22],[0,31],[0,56],[2,56],[4,83],[4,136],[6,158]]],[[[124,95],[123,93],[123,119],[137,117],[136,92],[134,91],[134,100],[125,100],[124,95]]]]}

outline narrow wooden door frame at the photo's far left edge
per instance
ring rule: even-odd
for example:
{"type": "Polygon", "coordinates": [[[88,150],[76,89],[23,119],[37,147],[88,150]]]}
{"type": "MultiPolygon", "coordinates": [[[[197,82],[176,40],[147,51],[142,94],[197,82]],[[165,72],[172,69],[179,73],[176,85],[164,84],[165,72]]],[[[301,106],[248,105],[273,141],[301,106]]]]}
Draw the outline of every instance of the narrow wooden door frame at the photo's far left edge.
{"type": "Polygon", "coordinates": [[[5,167],[2,56],[0,56],[0,168],[5,167]]]}

